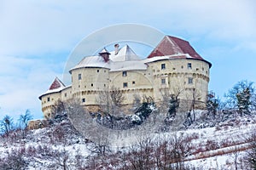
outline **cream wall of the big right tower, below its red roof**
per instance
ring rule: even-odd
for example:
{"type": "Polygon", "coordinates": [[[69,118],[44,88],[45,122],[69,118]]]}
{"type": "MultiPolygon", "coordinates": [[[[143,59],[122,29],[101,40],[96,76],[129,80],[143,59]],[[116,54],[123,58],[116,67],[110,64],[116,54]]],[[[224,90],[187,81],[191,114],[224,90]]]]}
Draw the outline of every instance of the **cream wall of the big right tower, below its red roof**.
{"type": "Polygon", "coordinates": [[[207,62],[196,59],[165,59],[148,65],[153,72],[156,102],[161,101],[166,93],[179,94],[179,99],[192,99],[194,93],[198,100],[206,101],[209,82],[207,62]]]}

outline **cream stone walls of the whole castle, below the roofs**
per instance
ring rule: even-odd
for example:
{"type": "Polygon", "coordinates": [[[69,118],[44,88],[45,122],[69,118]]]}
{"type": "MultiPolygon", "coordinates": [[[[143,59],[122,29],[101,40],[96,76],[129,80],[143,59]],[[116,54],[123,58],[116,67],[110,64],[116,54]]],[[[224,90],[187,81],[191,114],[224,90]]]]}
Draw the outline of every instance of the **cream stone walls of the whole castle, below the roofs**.
{"type": "MultiPolygon", "coordinates": [[[[51,105],[58,99],[79,99],[81,105],[97,105],[97,97],[112,86],[125,96],[122,104],[137,97],[150,96],[161,102],[165,94],[179,94],[181,100],[197,100],[203,107],[207,99],[209,64],[198,59],[163,59],[149,62],[146,71],[109,71],[107,68],[79,68],[72,71],[72,86],[60,93],[42,96],[42,111],[49,118],[51,105]]],[[[183,102],[191,105],[189,102],[183,102]]],[[[189,108],[189,106],[188,106],[189,108]]]]}

